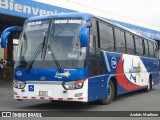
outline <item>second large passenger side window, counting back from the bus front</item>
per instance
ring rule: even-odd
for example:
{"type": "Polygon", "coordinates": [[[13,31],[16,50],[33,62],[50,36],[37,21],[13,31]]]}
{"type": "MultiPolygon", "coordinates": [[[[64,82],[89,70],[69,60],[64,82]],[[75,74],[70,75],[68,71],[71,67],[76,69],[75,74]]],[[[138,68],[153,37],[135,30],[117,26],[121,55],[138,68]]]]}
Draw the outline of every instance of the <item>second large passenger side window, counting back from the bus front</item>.
{"type": "Polygon", "coordinates": [[[124,32],[119,29],[115,29],[115,43],[117,52],[126,53],[124,32]]]}

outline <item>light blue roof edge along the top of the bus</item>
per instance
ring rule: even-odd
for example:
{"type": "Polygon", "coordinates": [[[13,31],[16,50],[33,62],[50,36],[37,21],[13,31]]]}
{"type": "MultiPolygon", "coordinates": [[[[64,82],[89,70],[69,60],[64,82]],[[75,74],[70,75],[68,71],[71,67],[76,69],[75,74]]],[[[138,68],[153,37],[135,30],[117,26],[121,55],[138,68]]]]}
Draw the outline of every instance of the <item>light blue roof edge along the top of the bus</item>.
{"type": "MultiPolygon", "coordinates": [[[[144,36],[141,36],[139,35],[138,33],[136,32],[133,32],[132,30],[128,29],[127,27],[124,27],[118,23],[113,23],[105,18],[101,18],[101,17],[97,17],[97,16],[94,16],[92,14],[89,14],[89,13],[81,13],[81,12],[73,12],[73,13],[61,13],[61,14],[54,14],[54,15],[43,15],[43,16],[35,16],[35,17],[31,17],[29,19],[27,19],[25,22],[31,22],[31,21],[37,21],[37,20],[45,20],[45,19],[52,19],[52,18],[56,18],[56,19],[62,19],[62,18],[77,18],[77,19],[85,19],[86,21],[90,21],[93,17],[95,18],[98,18],[104,22],[107,22],[109,24],[112,24],[114,26],[117,26],[119,28],[122,28],[126,31],[129,31],[135,35],[138,35],[140,37],[143,37],[143,38],[146,38],[146,39],[149,39],[147,37],[144,37],[144,36]]],[[[152,39],[149,39],[151,41],[154,41],[152,39]]],[[[155,42],[155,41],[154,41],[155,42]]],[[[156,42],[155,42],[156,43],[156,42]]]]}

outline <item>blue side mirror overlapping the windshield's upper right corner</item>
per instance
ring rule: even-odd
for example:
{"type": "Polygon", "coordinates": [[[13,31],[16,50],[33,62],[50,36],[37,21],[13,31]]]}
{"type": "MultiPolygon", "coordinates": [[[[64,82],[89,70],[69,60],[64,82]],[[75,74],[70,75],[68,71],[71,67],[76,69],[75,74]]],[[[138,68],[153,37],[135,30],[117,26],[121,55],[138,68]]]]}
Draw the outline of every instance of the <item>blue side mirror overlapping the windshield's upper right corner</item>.
{"type": "Polygon", "coordinates": [[[85,23],[80,31],[80,44],[81,47],[87,47],[89,43],[89,26],[91,26],[90,22],[85,23]]]}

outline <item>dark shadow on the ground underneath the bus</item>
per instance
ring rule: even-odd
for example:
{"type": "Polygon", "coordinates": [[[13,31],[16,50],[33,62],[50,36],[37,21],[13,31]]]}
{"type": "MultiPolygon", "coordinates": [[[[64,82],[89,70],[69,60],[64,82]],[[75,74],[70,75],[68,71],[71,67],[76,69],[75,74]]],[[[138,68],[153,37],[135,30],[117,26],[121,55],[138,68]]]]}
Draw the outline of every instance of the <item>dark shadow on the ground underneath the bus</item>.
{"type": "MultiPolygon", "coordinates": [[[[156,89],[153,89],[153,91],[156,89]]],[[[130,92],[124,95],[119,95],[115,98],[115,100],[109,104],[109,106],[112,106],[115,102],[118,102],[123,99],[127,99],[129,97],[134,97],[137,95],[141,94],[147,94],[142,90],[139,91],[134,91],[130,92]]],[[[81,102],[65,102],[65,101],[52,101],[52,102],[46,102],[46,103],[41,103],[41,104],[36,104],[36,105],[31,105],[31,106],[25,106],[25,107],[20,107],[20,109],[34,109],[34,110],[53,110],[53,111],[88,111],[96,110],[96,107],[101,106],[98,101],[95,102],[89,102],[89,103],[81,103],[81,102]]]]}

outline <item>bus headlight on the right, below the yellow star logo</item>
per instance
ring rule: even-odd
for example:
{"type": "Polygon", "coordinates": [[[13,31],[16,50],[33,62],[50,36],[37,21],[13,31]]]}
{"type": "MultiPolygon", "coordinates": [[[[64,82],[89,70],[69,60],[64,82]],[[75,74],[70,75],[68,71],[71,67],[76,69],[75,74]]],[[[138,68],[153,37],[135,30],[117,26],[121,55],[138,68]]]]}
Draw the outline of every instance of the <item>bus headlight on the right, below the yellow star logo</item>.
{"type": "Polygon", "coordinates": [[[85,80],[86,79],[64,82],[62,85],[66,90],[81,89],[85,80]]]}

